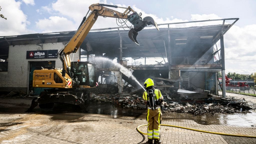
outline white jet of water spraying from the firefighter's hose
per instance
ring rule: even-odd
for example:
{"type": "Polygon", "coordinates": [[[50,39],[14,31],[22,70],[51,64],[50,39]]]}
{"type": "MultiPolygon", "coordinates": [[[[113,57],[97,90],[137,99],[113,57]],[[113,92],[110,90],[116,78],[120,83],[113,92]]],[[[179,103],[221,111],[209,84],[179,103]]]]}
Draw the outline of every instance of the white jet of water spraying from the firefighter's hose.
{"type": "Polygon", "coordinates": [[[119,63],[109,59],[109,58],[105,58],[105,57],[94,57],[94,59],[92,60],[92,63],[96,64],[96,65],[101,65],[102,68],[106,68],[107,67],[112,67],[110,64],[114,64],[116,67],[118,67],[120,70],[120,72],[122,74],[124,74],[125,76],[127,76],[129,79],[132,78],[139,86],[141,86],[144,91],[145,88],[139,83],[139,81],[132,75],[132,72],[125,68],[124,66],[120,65],[119,63]]]}

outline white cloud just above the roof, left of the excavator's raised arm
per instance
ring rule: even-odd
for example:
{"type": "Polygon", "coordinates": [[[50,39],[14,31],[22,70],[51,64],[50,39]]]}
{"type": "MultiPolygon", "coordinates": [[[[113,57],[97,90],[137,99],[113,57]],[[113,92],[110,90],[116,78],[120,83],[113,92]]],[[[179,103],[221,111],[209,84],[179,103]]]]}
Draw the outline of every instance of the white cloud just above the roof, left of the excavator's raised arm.
{"type": "Polygon", "coordinates": [[[42,29],[42,33],[60,32],[74,30],[74,24],[64,17],[51,16],[49,19],[39,19],[36,26],[42,29]]]}

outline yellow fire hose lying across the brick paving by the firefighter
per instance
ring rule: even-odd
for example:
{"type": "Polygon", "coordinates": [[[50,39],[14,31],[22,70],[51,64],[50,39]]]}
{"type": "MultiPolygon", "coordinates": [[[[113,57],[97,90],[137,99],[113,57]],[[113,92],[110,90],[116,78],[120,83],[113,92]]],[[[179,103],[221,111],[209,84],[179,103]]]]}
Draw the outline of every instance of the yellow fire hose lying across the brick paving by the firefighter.
{"type": "MultiPolygon", "coordinates": [[[[142,126],[147,126],[147,125],[140,125],[137,127],[137,130],[142,133],[143,135],[147,135],[147,133],[144,133],[139,130],[139,127],[142,126]]],[[[180,126],[174,126],[174,125],[165,125],[161,124],[161,126],[168,126],[168,127],[176,127],[176,128],[183,128],[183,129],[189,129],[189,130],[194,130],[194,131],[199,131],[199,132],[205,132],[205,133],[212,133],[216,135],[225,135],[225,136],[234,136],[234,137],[248,137],[248,138],[256,138],[256,136],[246,136],[246,135],[233,135],[233,134],[228,134],[228,133],[219,133],[219,132],[211,132],[211,131],[204,131],[204,130],[198,130],[198,129],[192,129],[192,128],[186,128],[186,127],[180,127],[180,126]]]]}

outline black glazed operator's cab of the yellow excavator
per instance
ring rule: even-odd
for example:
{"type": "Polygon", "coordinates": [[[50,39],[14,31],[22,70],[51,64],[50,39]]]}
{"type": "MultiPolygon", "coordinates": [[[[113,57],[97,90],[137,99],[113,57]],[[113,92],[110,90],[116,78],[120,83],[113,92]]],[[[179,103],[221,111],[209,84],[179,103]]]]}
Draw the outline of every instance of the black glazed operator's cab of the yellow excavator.
{"type": "Polygon", "coordinates": [[[79,81],[80,88],[96,86],[95,64],[89,61],[71,62],[71,72],[79,81]]]}

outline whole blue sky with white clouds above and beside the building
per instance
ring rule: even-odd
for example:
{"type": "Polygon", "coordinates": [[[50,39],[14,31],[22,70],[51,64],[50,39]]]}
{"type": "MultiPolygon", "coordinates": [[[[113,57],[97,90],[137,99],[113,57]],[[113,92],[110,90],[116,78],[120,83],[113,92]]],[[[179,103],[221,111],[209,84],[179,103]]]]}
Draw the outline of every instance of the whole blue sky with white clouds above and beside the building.
{"type": "MultiPolygon", "coordinates": [[[[0,14],[7,18],[0,18],[0,36],[77,30],[94,3],[131,6],[142,17],[153,17],[158,24],[239,18],[224,35],[226,73],[256,72],[255,0],[0,0],[0,14]]],[[[171,25],[187,26],[201,25],[171,25]]],[[[99,17],[92,29],[107,27],[117,27],[116,21],[99,17]]]]}

